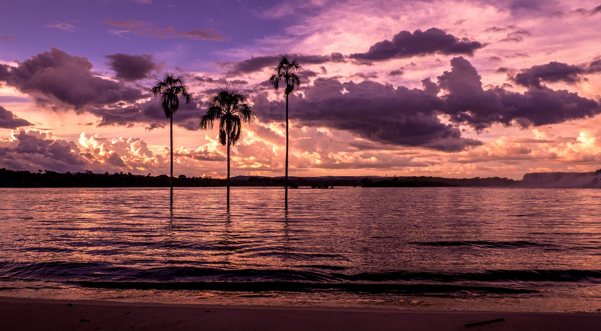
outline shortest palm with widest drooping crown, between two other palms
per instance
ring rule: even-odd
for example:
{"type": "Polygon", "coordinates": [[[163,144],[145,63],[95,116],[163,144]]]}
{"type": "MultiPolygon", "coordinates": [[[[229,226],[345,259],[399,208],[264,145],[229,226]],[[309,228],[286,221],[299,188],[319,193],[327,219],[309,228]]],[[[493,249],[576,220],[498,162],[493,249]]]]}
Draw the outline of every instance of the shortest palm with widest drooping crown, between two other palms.
{"type": "Polygon", "coordinates": [[[230,208],[230,146],[235,145],[242,134],[242,122],[251,123],[257,119],[252,105],[246,104],[246,96],[241,88],[230,85],[219,87],[207,104],[206,114],[198,119],[201,129],[212,129],[213,122],[219,121],[219,143],[227,146],[227,208],[230,208]]]}

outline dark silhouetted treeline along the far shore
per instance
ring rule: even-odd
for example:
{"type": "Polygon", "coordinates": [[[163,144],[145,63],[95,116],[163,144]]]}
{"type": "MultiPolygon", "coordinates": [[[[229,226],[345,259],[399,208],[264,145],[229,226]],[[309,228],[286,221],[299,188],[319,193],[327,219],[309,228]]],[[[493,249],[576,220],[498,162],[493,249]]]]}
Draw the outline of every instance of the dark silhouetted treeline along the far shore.
{"type": "MultiPolygon", "coordinates": [[[[284,187],[283,177],[235,176],[230,179],[233,187],[284,187]]],[[[186,177],[173,179],[174,187],[222,187],[225,179],[186,177]]],[[[322,176],[290,177],[289,187],[454,187],[454,186],[517,186],[519,181],[507,178],[442,178],[426,176],[402,176],[383,178],[379,176],[322,176]]],[[[48,170],[31,173],[0,169],[0,187],[169,187],[169,176],[132,173],[59,173],[48,170]]]]}

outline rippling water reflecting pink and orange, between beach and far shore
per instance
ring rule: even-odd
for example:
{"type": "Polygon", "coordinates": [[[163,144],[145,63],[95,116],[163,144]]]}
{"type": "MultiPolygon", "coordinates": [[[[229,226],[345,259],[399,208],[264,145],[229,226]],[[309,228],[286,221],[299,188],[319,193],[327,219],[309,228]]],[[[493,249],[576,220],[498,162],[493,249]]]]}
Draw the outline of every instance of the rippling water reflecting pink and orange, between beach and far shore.
{"type": "Polygon", "coordinates": [[[0,189],[0,295],[601,310],[601,190],[0,189]]]}

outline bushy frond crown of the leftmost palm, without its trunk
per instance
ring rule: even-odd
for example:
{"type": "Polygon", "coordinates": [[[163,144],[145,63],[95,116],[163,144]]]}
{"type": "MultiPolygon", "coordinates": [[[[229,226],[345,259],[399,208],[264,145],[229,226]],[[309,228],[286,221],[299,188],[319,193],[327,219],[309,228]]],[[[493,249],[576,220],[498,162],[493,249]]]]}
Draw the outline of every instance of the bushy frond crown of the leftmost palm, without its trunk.
{"type": "Polygon", "coordinates": [[[165,72],[163,79],[156,79],[150,93],[160,96],[165,116],[170,119],[180,108],[180,96],[186,99],[186,104],[192,102],[192,94],[188,92],[184,75],[175,76],[173,73],[165,72]]]}

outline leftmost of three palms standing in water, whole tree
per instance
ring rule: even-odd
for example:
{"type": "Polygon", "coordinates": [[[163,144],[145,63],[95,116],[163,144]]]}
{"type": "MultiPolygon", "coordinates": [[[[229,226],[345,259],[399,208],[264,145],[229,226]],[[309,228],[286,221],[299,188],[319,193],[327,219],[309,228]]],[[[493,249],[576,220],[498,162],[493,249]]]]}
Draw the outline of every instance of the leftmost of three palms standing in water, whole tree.
{"type": "Polygon", "coordinates": [[[171,189],[169,196],[171,198],[170,208],[173,208],[173,114],[180,108],[180,97],[186,100],[186,104],[192,102],[192,94],[188,93],[189,87],[186,86],[184,75],[175,76],[173,73],[163,73],[163,79],[156,79],[150,93],[153,96],[160,96],[163,111],[169,119],[169,150],[171,152],[171,189]]]}

